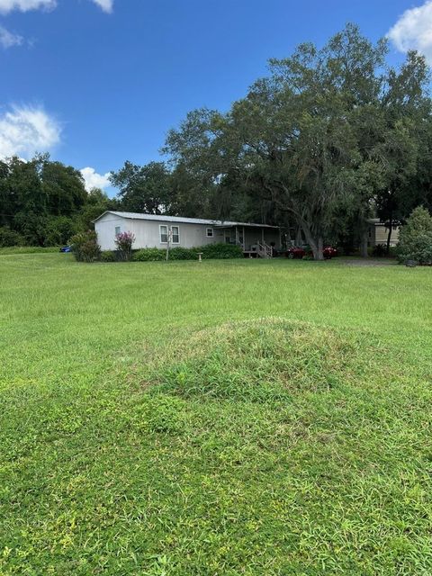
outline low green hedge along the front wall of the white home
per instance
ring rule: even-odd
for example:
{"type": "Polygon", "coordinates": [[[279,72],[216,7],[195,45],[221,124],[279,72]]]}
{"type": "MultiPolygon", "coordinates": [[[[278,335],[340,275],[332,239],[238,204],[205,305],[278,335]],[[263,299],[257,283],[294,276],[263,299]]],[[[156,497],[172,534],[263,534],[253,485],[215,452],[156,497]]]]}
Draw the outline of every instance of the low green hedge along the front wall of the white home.
{"type": "MultiPolygon", "coordinates": [[[[207,260],[243,257],[243,250],[239,246],[232,244],[207,244],[207,246],[194,248],[171,248],[169,250],[169,260],[197,260],[200,252],[202,253],[202,258],[207,260]]],[[[165,259],[165,248],[142,248],[135,252],[132,257],[135,262],[156,262],[165,259]]]]}

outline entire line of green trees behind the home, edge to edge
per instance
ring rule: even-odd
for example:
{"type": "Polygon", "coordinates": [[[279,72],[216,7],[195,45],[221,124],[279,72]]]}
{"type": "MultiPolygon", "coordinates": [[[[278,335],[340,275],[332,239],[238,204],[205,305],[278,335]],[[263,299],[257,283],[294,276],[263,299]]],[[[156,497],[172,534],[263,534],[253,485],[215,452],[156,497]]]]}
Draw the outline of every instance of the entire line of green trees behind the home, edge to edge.
{"type": "Polygon", "coordinates": [[[371,217],[392,230],[432,207],[429,69],[414,51],[399,67],[387,57],[386,40],[348,24],[271,59],[228,112],[194,110],[170,130],[166,162],[112,172],[115,199],[47,156],[1,162],[0,226],[46,246],[104,210],[144,211],[278,224],[318,259],[329,242],[366,255],[371,217]]]}

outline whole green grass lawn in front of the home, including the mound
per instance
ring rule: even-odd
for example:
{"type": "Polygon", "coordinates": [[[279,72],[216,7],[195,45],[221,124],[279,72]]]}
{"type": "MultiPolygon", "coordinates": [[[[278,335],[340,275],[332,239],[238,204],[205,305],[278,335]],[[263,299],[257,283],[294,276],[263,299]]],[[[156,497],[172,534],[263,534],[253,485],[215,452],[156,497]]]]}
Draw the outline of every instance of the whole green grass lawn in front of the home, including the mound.
{"type": "Polygon", "coordinates": [[[432,271],[0,254],[0,574],[432,574],[432,271]]]}

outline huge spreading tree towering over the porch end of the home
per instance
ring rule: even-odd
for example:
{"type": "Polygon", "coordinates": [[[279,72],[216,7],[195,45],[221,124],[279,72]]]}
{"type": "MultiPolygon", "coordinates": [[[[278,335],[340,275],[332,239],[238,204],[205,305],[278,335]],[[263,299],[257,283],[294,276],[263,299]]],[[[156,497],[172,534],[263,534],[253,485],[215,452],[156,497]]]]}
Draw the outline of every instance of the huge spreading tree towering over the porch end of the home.
{"type": "Polygon", "coordinates": [[[431,200],[428,67],[415,52],[388,67],[386,54],[354,25],[322,49],[303,44],[229,112],[190,112],[166,152],[220,191],[269,202],[315,257],[341,234],[366,254],[373,211],[392,229],[431,200]]]}

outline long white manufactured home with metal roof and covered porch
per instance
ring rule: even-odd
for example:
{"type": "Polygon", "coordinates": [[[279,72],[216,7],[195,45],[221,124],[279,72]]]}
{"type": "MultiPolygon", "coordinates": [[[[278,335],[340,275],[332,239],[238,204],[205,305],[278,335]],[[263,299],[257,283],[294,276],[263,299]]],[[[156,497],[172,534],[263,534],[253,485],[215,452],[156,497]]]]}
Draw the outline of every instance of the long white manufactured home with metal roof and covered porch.
{"type": "Polygon", "coordinates": [[[115,249],[115,237],[131,232],[133,249],[145,247],[200,247],[219,242],[243,248],[245,256],[270,257],[281,247],[281,232],[276,226],[250,222],[227,222],[158,216],[138,212],[105,211],[94,220],[94,229],[103,250],[115,249]]]}

